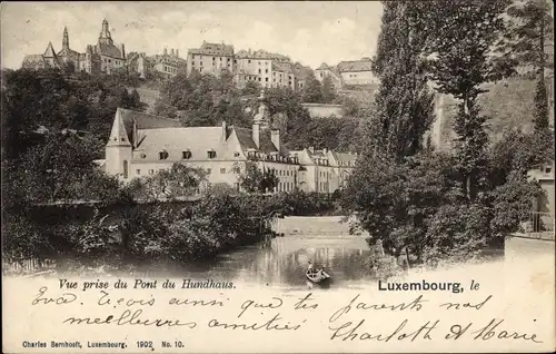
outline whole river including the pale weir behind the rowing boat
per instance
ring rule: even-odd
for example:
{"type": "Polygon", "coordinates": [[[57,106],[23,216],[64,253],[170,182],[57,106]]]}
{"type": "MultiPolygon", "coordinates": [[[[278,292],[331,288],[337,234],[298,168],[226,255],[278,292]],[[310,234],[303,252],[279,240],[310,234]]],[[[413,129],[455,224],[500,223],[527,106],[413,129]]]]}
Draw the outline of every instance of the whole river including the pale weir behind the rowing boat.
{"type": "MultiPolygon", "coordinates": [[[[272,238],[267,245],[242,247],[200,265],[166,265],[161,272],[167,276],[195,281],[295,289],[312,286],[305,276],[311,260],[331,275],[329,286],[346,287],[373,281],[366,266],[370,250],[365,238],[349,235],[348,225],[339,220],[339,217],[286,217],[275,227],[284,236],[272,238]]],[[[155,269],[148,273],[161,275],[155,269]]]]}

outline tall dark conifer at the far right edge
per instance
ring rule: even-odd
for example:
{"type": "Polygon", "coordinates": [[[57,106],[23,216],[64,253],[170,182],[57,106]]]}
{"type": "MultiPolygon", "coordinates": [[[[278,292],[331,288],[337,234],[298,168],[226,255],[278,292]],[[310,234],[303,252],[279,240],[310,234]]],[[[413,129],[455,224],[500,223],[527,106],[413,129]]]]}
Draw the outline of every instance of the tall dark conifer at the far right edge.
{"type": "Polygon", "coordinates": [[[548,127],[548,97],[545,70],[554,66],[554,56],[549,58],[548,55],[549,47],[554,47],[552,6],[546,0],[527,0],[514,3],[507,12],[514,19],[514,26],[507,36],[508,48],[522,66],[532,66],[537,76],[535,129],[546,129],[548,127]]]}

